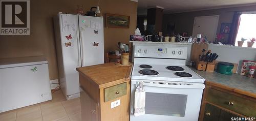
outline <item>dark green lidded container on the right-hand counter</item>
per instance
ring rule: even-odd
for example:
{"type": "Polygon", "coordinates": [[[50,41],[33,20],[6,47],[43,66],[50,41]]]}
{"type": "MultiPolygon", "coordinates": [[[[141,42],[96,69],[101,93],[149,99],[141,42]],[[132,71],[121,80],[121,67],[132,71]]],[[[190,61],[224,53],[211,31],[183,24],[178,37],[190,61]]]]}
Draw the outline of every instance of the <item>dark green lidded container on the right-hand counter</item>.
{"type": "Polygon", "coordinates": [[[221,74],[227,74],[230,75],[233,73],[233,67],[234,65],[227,62],[219,62],[217,65],[217,72],[221,74]]]}

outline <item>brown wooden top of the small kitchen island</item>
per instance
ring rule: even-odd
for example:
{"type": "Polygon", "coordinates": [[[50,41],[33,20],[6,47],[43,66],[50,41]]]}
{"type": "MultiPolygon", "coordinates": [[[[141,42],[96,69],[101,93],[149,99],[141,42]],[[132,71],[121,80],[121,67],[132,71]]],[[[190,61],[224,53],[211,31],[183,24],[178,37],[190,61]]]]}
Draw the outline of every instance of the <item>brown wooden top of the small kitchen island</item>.
{"type": "Polygon", "coordinates": [[[117,66],[115,63],[106,63],[95,66],[76,68],[79,74],[94,81],[99,88],[103,88],[113,83],[120,83],[131,79],[131,66],[117,66]]]}

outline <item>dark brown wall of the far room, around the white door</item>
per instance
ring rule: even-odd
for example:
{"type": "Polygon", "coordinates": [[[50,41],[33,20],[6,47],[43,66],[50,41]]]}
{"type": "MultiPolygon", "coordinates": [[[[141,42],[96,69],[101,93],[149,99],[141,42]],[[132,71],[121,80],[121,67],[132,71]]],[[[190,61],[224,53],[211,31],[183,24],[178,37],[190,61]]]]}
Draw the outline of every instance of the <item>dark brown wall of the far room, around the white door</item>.
{"type": "Polygon", "coordinates": [[[168,23],[175,23],[175,33],[188,32],[188,35],[192,35],[194,18],[196,16],[211,16],[219,15],[219,24],[217,28],[217,33],[220,32],[221,23],[227,22],[231,23],[233,19],[234,11],[256,11],[256,6],[246,6],[246,7],[235,7],[235,8],[224,8],[224,9],[214,9],[205,11],[195,11],[195,12],[185,12],[185,13],[175,13],[166,14],[163,17],[163,32],[166,32],[166,25],[168,23]]]}

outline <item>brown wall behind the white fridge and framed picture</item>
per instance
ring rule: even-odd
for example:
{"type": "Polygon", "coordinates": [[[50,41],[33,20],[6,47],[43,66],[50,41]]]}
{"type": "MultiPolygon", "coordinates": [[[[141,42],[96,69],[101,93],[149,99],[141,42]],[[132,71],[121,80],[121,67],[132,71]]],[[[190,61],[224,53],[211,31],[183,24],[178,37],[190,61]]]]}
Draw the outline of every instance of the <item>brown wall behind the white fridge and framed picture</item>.
{"type": "MultiPolygon", "coordinates": [[[[0,58],[39,56],[47,57],[50,79],[57,79],[53,16],[58,12],[75,13],[77,5],[84,11],[97,6],[94,0],[31,0],[30,36],[0,36],[0,58]]],[[[129,37],[136,29],[137,3],[130,0],[101,0],[101,15],[105,13],[131,16],[130,28],[104,28],[104,50],[117,49],[117,42],[129,43],[129,37]]]]}

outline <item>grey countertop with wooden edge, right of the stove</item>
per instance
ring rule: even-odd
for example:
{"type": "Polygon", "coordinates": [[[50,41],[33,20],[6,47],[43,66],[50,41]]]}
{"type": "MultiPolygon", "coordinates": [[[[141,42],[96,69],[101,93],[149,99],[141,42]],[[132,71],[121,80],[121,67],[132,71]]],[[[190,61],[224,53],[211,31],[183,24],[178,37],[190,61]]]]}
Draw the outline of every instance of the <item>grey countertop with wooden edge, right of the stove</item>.
{"type": "Polygon", "coordinates": [[[193,71],[201,75],[206,83],[224,85],[232,88],[234,92],[244,94],[256,98],[256,79],[248,78],[240,74],[225,75],[218,72],[199,71],[191,68],[193,71]]]}

